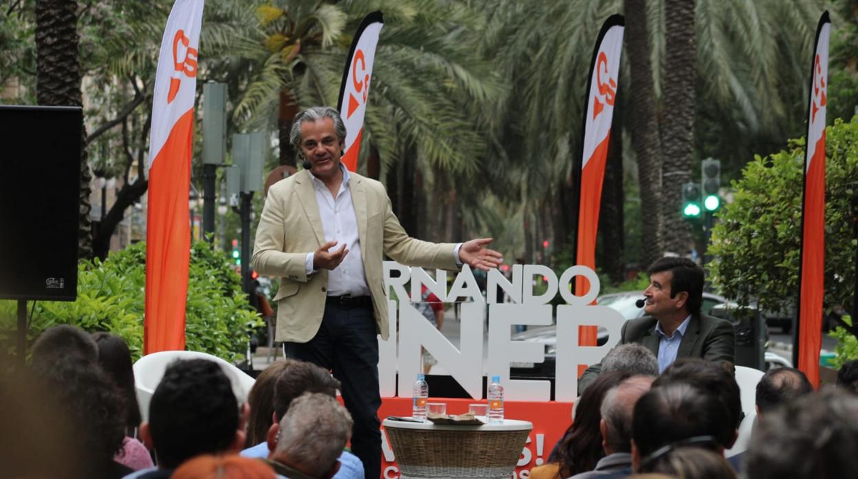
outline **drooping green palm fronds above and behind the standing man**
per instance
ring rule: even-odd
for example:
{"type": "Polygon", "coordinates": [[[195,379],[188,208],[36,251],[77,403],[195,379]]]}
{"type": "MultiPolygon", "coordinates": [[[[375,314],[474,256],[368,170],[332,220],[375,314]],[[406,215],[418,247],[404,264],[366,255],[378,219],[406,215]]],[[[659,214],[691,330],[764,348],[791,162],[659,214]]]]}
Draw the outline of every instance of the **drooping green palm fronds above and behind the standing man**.
{"type": "MultiPolygon", "coordinates": [[[[396,183],[389,184],[396,213],[405,207],[426,212],[428,207],[420,193],[437,188],[437,184],[452,183],[451,188],[458,190],[456,185],[461,182],[474,189],[471,178],[486,158],[486,139],[474,121],[473,105],[485,104],[502,89],[489,63],[474,56],[474,42],[468,32],[477,27],[474,21],[480,16],[452,1],[344,2],[336,4],[337,14],[328,6],[329,21],[318,21],[322,15],[299,10],[299,6],[290,4],[290,18],[296,25],[313,27],[305,29],[308,34],[299,42],[296,35],[279,30],[272,33],[274,23],[265,23],[260,45],[279,48],[260,49],[257,54],[257,75],[234,112],[237,121],[246,125],[269,122],[274,114],[272,99],[286,98],[283,92],[299,108],[335,105],[352,40],[350,33],[366,14],[382,9],[385,26],[373,67],[360,170],[396,183]],[[311,17],[313,21],[303,20],[311,17]],[[330,20],[334,17],[336,21],[330,20]],[[286,37],[293,43],[284,43],[286,37]],[[370,168],[368,159],[378,159],[380,165],[370,168]]],[[[260,9],[270,14],[260,15],[263,21],[285,21],[283,12],[287,9],[275,9],[260,9]]],[[[288,152],[287,138],[281,136],[281,161],[284,151],[288,152]]],[[[293,161],[293,155],[288,156],[293,161]]],[[[486,184],[479,187],[486,188],[486,184]]],[[[459,195],[445,207],[458,210],[462,204],[476,204],[475,197],[459,195]]],[[[414,232],[417,225],[429,223],[425,215],[408,214],[402,218],[403,225],[414,232]]]]}

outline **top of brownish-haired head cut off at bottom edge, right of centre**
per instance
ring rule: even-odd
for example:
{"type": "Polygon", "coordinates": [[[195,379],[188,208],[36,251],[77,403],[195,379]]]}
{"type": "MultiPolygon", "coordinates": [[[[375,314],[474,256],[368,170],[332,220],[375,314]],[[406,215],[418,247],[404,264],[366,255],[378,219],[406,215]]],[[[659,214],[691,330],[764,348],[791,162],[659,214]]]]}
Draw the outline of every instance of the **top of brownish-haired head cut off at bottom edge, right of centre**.
{"type": "Polygon", "coordinates": [[[676,479],[735,479],[736,473],[721,454],[700,447],[679,447],[641,464],[640,472],[676,479]]]}

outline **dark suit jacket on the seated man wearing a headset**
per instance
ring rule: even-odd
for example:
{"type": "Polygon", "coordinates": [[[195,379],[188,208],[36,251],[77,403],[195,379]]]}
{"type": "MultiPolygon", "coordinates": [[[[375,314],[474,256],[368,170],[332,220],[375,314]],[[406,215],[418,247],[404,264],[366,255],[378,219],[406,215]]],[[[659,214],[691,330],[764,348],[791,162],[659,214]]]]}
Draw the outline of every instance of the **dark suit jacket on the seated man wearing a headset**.
{"type": "MultiPolygon", "coordinates": [[[[648,350],[658,356],[660,338],[656,333],[658,320],[644,316],[627,320],[619,334],[619,344],[644,344],[648,350]]],[[[736,332],[728,320],[701,314],[692,316],[688,322],[685,336],[680,342],[676,358],[701,357],[714,362],[735,362],[736,332]]],[[[601,373],[601,362],[587,368],[578,380],[578,394],[589,386],[601,373]]]]}

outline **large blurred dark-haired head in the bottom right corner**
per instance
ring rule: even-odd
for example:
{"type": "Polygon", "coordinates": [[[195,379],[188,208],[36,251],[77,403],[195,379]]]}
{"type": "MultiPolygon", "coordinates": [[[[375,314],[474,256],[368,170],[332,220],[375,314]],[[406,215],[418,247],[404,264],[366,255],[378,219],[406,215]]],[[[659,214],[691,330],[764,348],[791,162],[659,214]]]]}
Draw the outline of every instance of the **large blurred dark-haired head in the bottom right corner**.
{"type": "Polygon", "coordinates": [[[825,388],[760,417],[745,455],[745,476],[854,477],[856,451],[858,398],[838,388],[825,388]]]}

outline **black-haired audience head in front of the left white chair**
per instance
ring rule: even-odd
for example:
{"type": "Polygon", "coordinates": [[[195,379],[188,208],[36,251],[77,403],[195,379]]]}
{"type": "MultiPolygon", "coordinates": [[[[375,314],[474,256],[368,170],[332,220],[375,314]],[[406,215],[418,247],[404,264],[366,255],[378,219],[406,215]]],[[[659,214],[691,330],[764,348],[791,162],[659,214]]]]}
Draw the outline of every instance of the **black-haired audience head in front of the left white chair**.
{"type": "Polygon", "coordinates": [[[172,362],[152,394],[149,421],[140,435],[154,448],[161,469],[174,469],[200,454],[238,452],[245,444],[239,404],[217,362],[172,362]]]}

